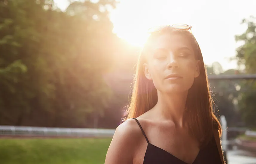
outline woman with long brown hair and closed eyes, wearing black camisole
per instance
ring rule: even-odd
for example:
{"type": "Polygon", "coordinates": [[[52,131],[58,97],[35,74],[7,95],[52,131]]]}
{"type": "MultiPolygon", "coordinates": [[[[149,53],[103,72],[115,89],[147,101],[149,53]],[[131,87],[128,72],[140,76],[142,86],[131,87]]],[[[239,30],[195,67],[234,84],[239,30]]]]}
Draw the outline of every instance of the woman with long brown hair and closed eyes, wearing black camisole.
{"type": "Polygon", "coordinates": [[[128,117],[105,164],[222,164],[221,127],[191,26],[157,27],[137,64],[128,117]]]}

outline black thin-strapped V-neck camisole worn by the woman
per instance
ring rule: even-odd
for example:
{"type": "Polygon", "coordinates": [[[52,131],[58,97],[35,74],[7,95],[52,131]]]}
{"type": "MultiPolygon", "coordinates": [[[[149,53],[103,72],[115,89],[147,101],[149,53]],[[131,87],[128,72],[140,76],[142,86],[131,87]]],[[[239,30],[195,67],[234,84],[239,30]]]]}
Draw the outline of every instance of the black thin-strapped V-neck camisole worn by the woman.
{"type": "MultiPolygon", "coordinates": [[[[148,141],[148,138],[139,121],[136,118],[133,119],[136,120],[140,126],[140,129],[148,142],[143,164],[188,164],[170,154],[169,152],[163,150],[162,148],[151,144],[148,141]]],[[[192,164],[222,164],[214,136],[212,137],[212,140],[207,144],[207,146],[199,151],[196,159],[192,164]]]]}

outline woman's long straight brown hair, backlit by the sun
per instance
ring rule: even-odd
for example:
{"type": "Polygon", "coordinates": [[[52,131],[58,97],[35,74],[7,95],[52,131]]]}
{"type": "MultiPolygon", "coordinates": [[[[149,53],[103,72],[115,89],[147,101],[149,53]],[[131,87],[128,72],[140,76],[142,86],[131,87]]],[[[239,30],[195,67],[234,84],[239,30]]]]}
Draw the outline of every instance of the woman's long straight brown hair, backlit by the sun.
{"type": "Polygon", "coordinates": [[[186,107],[188,108],[188,125],[190,132],[203,147],[211,140],[214,128],[218,128],[219,134],[221,135],[221,126],[214,114],[213,100],[201,49],[194,35],[187,30],[177,30],[167,26],[160,32],[151,33],[137,62],[131,102],[126,119],[142,115],[153,108],[157,103],[157,89],[153,82],[145,77],[143,64],[146,62],[146,52],[149,42],[163,34],[178,34],[186,37],[194,49],[196,58],[200,60],[202,64],[200,67],[200,75],[194,79],[193,85],[188,90],[186,107]]]}

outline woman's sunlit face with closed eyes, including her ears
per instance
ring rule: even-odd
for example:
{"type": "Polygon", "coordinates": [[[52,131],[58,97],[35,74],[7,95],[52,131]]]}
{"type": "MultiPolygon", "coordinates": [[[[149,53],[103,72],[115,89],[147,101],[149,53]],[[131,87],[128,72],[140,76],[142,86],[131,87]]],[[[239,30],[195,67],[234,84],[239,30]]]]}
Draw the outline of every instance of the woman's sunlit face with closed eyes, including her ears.
{"type": "Polygon", "coordinates": [[[186,92],[200,74],[200,61],[184,36],[163,34],[151,41],[147,63],[143,64],[146,78],[153,80],[160,92],[186,92]]]}

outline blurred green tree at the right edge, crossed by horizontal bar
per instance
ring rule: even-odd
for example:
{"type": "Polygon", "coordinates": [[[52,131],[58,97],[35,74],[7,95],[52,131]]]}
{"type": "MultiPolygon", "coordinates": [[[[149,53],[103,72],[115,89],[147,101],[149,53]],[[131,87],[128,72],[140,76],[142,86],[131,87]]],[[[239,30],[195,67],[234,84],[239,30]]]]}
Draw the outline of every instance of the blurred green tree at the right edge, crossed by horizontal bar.
{"type": "MultiPolygon", "coordinates": [[[[241,34],[236,35],[237,42],[243,43],[237,48],[236,59],[240,66],[245,66],[246,73],[256,73],[256,18],[251,16],[248,19],[243,19],[241,24],[247,24],[247,30],[241,34]]],[[[256,126],[256,82],[246,81],[241,86],[249,87],[247,92],[241,94],[239,101],[239,108],[243,121],[249,127],[256,126]],[[254,92],[253,92],[254,91],[254,92]]]]}

